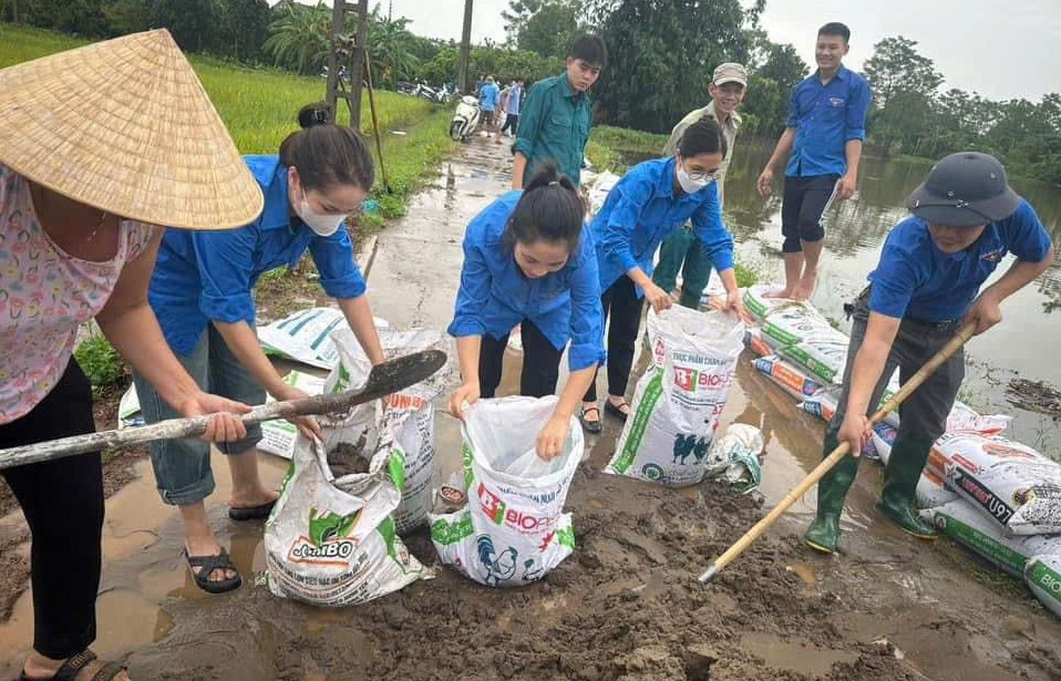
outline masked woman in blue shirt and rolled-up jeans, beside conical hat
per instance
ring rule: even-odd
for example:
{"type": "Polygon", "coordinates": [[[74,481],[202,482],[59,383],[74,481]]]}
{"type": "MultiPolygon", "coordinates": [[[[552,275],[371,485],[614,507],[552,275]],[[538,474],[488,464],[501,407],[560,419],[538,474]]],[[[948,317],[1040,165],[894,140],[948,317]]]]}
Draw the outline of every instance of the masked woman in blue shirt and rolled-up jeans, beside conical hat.
{"type": "MultiPolygon", "coordinates": [[[[364,278],[343,228],[372,187],[372,155],[358,132],[326,120],[322,104],[306,106],[299,112],[302,130],[284,141],[278,156],[244,158],[265,194],[257,220],[229,231],[169,230],[158,251],[150,302],[166,341],[199,385],[247,404],[261,404],[266,392],[277,400],[305,396],[284,383],[258,344],[253,290],[264,272],[295,266],[307,249],[321,286],[337,299],[365,354],[373,363],[383,361],[364,278]]],[[[151,385],[135,380],[148,422],[174,416],[151,385]]],[[[303,432],[320,433],[312,417],[296,423],[303,432]]],[[[259,427],[248,427],[246,438],[220,447],[229,455],[234,520],[267,517],[277,498],[258,476],[260,437],[259,427]]],[[[158,442],[151,458],[163,502],[181,509],[196,585],[215,594],[235,589],[239,572],[214,536],[203,504],[214,491],[209,447],[190,440],[158,442]]]]}

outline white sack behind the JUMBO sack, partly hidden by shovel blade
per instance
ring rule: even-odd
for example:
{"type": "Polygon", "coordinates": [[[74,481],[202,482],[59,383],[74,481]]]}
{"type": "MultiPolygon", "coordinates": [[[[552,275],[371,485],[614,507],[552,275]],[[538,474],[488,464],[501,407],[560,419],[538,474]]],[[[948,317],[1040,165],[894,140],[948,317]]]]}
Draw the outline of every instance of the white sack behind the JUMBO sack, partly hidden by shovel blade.
{"type": "MultiPolygon", "coordinates": [[[[446,340],[440,331],[413,329],[398,331],[378,329],[380,343],[387,357],[400,357],[421,350],[445,351],[446,340]]],[[[349,328],[332,334],[338,361],[325,392],[334,393],[364,385],[372,363],[361,343],[349,328]]],[[[402,503],[394,512],[398,532],[405,534],[428,519],[431,506],[431,485],[434,478],[435,415],[433,400],[442,394],[452,368],[447,364],[426,381],[416,383],[387,399],[356,406],[343,420],[342,427],[351,437],[364,437],[365,447],[374,451],[388,438],[402,451],[405,461],[405,485],[402,503]]]]}

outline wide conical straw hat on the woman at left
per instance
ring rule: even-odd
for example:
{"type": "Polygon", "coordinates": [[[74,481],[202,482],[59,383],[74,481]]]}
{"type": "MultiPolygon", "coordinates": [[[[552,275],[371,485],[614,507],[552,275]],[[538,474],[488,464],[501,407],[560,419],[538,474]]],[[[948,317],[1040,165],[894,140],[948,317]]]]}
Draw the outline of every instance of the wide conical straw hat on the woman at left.
{"type": "Polygon", "coordinates": [[[155,225],[239,227],[264,205],[165,30],[0,70],[0,163],[78,202],[155,225]]]}

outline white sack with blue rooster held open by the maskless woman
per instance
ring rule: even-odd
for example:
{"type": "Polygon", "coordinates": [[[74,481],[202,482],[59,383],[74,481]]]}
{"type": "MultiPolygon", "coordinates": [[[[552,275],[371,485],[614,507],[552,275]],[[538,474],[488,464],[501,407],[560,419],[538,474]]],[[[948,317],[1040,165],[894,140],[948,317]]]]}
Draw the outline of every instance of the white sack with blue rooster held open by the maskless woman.
{"type": "Polygon", "coordinates": [[[564,451],[550,462],[535,451],[556,402],[480,400],[465,412],[463,506],[429,519],[442,563],[480,584],[537,581],[575,548],[564,503],[583,458],[583,431],[573,419],[564,451]]]}

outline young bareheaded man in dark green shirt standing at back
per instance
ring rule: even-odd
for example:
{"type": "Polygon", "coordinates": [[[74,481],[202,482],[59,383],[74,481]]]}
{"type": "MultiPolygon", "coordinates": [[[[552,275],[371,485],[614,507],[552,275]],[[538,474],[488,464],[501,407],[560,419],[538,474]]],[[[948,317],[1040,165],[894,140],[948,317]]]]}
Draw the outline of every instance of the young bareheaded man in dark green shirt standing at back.
{"type": "Polygon", "coordinates": [[[571,45],[564,73],[538,81],[527,93],[512,147],[513,189],[523,188],[524,182],[546,163],[555,164],[578,186],[593,125],[588,92],[607,63],[604,39],[580,35],[571,45]]]}

